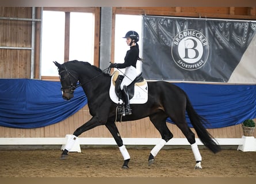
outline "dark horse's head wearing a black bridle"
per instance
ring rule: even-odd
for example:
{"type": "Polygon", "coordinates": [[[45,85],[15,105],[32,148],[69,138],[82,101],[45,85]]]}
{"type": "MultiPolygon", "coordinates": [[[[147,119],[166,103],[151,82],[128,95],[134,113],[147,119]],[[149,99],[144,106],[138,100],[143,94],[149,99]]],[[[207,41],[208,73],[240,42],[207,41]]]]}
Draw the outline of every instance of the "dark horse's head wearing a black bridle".
{"type": "Polygon", "coordinates": [[[58,62],[54,62],[54,64],[59,70],[62,97],[69,100],[74,97],[74,91],[77,88],[77,74],[75,72],[72,73],[64,64],[59,64],[58,62]]]}

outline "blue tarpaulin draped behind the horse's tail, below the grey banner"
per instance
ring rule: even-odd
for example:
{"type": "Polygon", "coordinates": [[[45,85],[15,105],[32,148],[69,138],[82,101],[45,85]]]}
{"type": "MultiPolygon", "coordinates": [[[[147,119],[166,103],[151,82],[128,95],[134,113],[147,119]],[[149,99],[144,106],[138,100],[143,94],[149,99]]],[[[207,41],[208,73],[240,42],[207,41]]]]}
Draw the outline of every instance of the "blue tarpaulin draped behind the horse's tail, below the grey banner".
{"type": "MultiPolygon", "coordinates": [[[[188,94],[196,112],[211,123],[207,128],[230,127],[256,118],[256,85],[174,84],[188,94]]],[[[188,116],[186,120],[192,127],[188,116]]]]}

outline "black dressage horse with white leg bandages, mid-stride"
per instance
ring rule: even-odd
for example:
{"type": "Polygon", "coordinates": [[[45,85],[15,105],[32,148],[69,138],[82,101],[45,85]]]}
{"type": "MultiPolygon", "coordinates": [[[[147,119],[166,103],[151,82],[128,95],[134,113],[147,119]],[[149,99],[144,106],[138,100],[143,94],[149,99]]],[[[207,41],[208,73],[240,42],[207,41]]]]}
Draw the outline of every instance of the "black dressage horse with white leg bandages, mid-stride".
{"type": "MultiPolygon", "coordinates": [[[[111,76],[87,62],[74,60],[63,64],[59,64],[58,62],[54,63],[59,70],[63,98],[69,100],[74,97],[73,93],[79,81],[87,96],[88,107],[92,116],[89,121],[79,127],[73,133],[72,137],[68,139],[60,159],[67,157],[68,151],[71,150],[76,138],[81,135],[81,133],[99,125],[105,125],[114,137],[123,155],[124,164],[122,168],[128,168],[130,156],[123,144],[123,140],[121,139],[115,123],[117,104],[109,97],[111,76]]],[[[184,133],[192,147],[196,159],[195,168],[202,168],[201,155],[196,144],[194,133],[190,130],[186,122],[186,112],[202,143],[213,153],[221,150],[220,146],[216,144],[213,137],[207,132],[203,125],[208,124],[207,120],[196,113],[189,101],[188,95],[178,86],[164,81],[148,82],[148,101],[146,104],[131,104],[131,109],[132,114],[124,116],[122,121],[132,121],[149,117],[152,124],[154,124],[155,128],[158,129],[162,136],[162,140],[156,144],[150,152],[148,165],[154,163],[155,156],[167,141],[173,137],[173,134],[166,125],[166,118],[170,117],[178,128],[181,129],[182,133],[184,133]]]]}

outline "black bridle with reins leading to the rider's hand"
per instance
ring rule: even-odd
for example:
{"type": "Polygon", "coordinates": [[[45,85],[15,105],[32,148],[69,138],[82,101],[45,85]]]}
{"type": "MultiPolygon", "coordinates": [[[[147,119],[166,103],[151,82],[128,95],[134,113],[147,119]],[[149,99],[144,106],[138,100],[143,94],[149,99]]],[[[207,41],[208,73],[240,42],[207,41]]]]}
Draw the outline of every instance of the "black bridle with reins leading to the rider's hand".
{"type": "MultiPolygon", "coordinates": [[[[111,68],[109,68],[109,67],[106,68],[105,70],[102,71],[101,74],[104,74],[105,71],[108,71],[108,73],[109,73],[109,72],[110,72],[110,69],[111,69],[111,68]]],[[[84,83],[82,83],[82,84],[81,84],[80,81],[79,81],[79,84],[78,84],[78,85],[77,85],[77,84],[74,85],[73,83],[71,83],[71,80],[70,80],[71,77],[74,78],[75,81],[78,81],[78,79],[77,79],[70,71],[67,70],[66,66],[65,66],[65,70],[62,70],[62,71],[59,72],[59,76],[60,76],[60,74],[62,74],[63,72],[66,72],[66,74],[67,74],[67,76],[68,76],[68,80],[69,80],[69,82],[70,82],[70,86],[68,86],[68,87],[61,87],[60,90],[62,90],[64,93],[74,93],[74,91],[75,91],[75,89],[77,89],[77,87],[83,86],[83,85],[85,85],[86,83],[92,81],[93,79],[95,79],[95,78],[97,78],[98,76],[101,75],[101,74],[98,74],[98,75],[94,76],[93,78],[89,79],[88,81],[86,81],[86,82],[84,82],[84,83]],[[70,89],[70,91],[65,91],[65,89],[70,89]]],[[[66,78],[66,77],[65,77],[65,78],[66,78]]],[[[60,81],[61,81],[61,78],[60,78],[60,81]]]]}

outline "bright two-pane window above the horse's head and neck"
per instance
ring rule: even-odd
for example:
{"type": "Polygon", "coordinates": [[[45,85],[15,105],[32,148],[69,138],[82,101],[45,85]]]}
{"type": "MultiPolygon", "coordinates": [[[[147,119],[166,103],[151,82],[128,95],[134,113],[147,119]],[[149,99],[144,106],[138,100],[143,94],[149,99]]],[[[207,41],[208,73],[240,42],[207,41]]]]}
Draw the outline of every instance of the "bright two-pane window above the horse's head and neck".
{"type": "Polygon", "coordinates": [[[54,61],[94,64],[94,14],[43,11],[41,76],[58,76],[54,61]],[[69,26],[68,26],[69,25],[69,26]]]}

